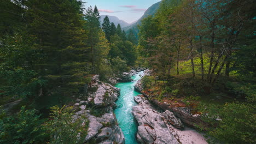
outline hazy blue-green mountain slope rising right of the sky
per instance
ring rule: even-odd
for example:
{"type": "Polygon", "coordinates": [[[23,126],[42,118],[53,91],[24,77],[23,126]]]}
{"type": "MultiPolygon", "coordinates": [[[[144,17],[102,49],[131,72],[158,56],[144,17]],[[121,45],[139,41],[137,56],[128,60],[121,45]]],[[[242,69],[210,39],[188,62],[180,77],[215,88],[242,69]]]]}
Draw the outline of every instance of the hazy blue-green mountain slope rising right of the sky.
{"type": "Polygon", "coordinates": [[[145,18],[145,17],[148,17],[149,15],[155,15],[156,11],[158,11],[159,9],[159,6],[160,6],[160,3],[161,2],[158,2],[158,3],[155,3],[153,4],[151,7],[149,7],[144,15],[136,22],[132,23],[132,25],[130,26],[127,26],[125,28],[123,28],[125,30],[126,33],[128,33],[130,31],[130,29],[135,33],[136,37],[138,37],[138,27],[137,25],[140,25],[141,24],[141,21],[145,18]]]}

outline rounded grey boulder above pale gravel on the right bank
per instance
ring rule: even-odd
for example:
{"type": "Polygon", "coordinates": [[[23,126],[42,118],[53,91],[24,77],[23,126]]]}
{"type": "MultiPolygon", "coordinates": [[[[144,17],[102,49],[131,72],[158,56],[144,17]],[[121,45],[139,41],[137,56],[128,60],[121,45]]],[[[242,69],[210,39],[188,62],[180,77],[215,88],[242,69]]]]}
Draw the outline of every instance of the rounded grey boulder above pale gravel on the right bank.
{"type": "Polygon", "coordinates": [[[184,128],[184,125],[181,121],[181,119],[174,116],[173,112],[166,110],[162,113],[162,115],[165,117],[165,122],[167,124],[171,124],[176,128],[184,128]]]}

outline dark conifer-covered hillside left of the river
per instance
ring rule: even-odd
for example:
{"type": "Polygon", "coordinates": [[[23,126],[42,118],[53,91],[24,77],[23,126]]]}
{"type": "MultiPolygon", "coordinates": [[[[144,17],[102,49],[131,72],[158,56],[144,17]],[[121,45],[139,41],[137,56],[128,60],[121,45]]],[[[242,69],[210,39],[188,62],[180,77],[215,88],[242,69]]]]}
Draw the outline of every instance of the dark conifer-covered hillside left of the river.
{"type": "Polygon", "coordinates": [[[77,143],[87,126],[70,123],[70,109],[59,107],[85,94],[95,74],[108,81],[135,64],[131,36],[108,18],[100,25],[97,7],[87,7],[77,0],[0,1],[0,105],[19,101],[1,108],[0,143],[77,143]],[[50,121],[42,119],[50,110],[50,121]]]}

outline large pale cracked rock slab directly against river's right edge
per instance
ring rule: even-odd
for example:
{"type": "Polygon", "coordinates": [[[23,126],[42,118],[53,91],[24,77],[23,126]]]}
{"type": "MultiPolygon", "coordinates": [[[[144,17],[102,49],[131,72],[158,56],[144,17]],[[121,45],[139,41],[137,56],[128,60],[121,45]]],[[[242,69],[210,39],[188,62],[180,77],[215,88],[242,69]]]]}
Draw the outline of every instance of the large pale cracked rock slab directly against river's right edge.
{"type": "Polygon", "coordinates": [[[135,101],[139,105],[132,107],[132,115],[139,124],[137,133],[139,142],[156,144],[179,143],[172,134],[168,123],[165,122],[165,117],[150,105],[148,100],[135,97],[135,101]]]}

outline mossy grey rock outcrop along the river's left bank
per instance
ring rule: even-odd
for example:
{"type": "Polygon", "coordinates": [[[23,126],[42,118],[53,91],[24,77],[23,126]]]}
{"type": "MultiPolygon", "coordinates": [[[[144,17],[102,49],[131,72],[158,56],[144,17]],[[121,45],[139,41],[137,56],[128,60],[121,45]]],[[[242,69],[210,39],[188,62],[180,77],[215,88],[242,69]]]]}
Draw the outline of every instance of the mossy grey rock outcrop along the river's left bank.
{"type": "Polygon", "coordinates": [[[92,77],[90,89],[87,97],[77,99],[74,104],[78,107],[75,117],[85,116],[89,121],[88,134],[84,138],[84,143],[125,143],[124,134],[119,128],[117,119],[113,113],[113,106],[120,95],[120,89],[101,82],[98,75],[92,77]],[[96,112],[104,111],[103,115],[93,115],[90,111],[93,107],[96,112]]]}

